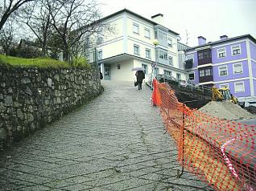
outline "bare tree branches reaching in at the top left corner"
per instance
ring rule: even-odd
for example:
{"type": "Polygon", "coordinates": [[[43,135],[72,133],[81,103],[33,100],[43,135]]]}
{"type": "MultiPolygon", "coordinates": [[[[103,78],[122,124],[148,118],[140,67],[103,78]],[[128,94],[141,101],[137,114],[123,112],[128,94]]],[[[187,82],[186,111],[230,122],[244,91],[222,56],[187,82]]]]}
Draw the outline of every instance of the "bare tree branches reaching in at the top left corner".
{"type": "Polygon", "coordinates": [[[2,26],[6,23],[7,19],[13,14],[16,10],[19,10],[21,6],[23,6],[27,2],[32,2],[35,0],[8,0],[5,1],[2,10],[0,11],[0,30],[2,30],[2,26]]]}

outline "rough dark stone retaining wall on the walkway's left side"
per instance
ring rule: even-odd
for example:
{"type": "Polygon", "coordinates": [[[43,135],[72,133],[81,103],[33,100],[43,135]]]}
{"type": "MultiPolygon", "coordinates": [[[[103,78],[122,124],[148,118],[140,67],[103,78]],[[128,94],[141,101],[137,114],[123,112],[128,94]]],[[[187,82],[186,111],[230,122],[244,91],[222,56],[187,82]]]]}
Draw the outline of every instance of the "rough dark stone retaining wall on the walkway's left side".
{"type": "Polygon", "coordinates": [[[96,68],[42,69],[0,65],[0,149],[101,93],[96,68]]]}

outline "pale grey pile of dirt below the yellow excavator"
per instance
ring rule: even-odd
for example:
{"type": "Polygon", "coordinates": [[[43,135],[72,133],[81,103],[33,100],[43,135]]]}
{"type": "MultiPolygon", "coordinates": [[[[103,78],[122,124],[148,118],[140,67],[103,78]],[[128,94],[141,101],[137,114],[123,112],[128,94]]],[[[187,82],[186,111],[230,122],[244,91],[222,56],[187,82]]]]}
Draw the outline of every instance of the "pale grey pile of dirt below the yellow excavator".
{"type": "Polygon", "coordinates": [[[238,104],[233,104],[230,101],[211,101],[204,107],[199,109],[209,116],[216,116],[225,120],[243,120],[255,118],[253,114],[241,108],[238,104]]]}

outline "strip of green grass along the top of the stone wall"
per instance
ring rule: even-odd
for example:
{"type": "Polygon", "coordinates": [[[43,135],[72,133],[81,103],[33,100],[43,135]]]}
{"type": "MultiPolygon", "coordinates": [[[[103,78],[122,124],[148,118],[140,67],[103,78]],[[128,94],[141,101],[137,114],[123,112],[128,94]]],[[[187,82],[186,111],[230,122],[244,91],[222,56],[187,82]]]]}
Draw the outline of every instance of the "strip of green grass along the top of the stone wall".
{"type": "MultiPolygon", "coordinates": [[[[41,68],[65,68],[72,67],[67,62],[50,59],[50,58],[35,58],[35,59],[24,59],[13,56],[0,55],[0,64],[9,65],[13,67],[41,67],[41,68]]],[[[89,64],[74,64],[75,67],[89,67],[89,64]]]]}

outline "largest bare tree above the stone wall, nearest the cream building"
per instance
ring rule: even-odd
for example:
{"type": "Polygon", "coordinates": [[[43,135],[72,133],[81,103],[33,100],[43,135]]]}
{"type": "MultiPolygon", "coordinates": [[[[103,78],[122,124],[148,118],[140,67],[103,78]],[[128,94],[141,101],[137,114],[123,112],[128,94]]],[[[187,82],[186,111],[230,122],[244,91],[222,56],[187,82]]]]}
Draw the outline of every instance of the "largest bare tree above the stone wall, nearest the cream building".
{"type": "Polygon", "coordinates": [[[47,6],[52,26],[63,41],[63,59],[66,61],[70,62],[72,50],[77,49],[74,47],[81,44],[81,39],[99,33],[105,27],[98,22],[101,12],[94,0],[47,0],[47,6]]]}

